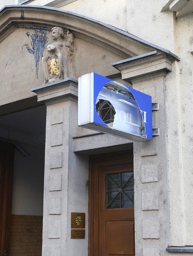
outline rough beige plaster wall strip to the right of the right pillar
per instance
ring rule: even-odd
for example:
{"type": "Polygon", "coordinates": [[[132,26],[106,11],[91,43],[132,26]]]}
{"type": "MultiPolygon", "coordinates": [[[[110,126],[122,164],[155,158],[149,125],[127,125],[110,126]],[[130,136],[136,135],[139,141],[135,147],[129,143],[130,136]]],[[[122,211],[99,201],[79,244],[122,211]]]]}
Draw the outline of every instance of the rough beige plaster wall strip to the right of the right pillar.
{"type": "MultiPolygon", "coordinates": [[[[177,18],[175,82],[167,81],[169,193],[172,245],[192,245],[192,16],[177,18]]],[[[171,74],[172,75],[172,74],[171,74]]]]}

